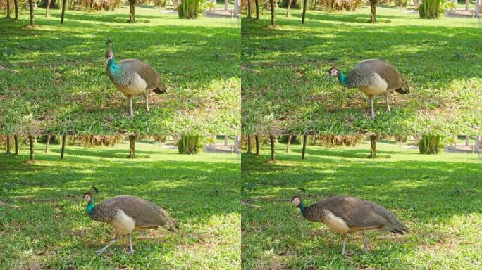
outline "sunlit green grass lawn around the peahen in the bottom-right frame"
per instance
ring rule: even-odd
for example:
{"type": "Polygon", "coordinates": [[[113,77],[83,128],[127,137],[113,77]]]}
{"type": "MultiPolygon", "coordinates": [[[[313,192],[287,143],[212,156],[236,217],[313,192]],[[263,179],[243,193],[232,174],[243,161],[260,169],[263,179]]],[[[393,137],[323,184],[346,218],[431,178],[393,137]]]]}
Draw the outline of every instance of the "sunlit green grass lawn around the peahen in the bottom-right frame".
{"type": "Polygon", "coordinates": [[[482,162],[474,154],[421,155],[393,141],[352,148],[276,147],[277,161],[242,155],[243,269],[481,269],[482,162]],[[304,189],[304,191],[302,191],[304,189]],[[307,205],[330,195],[352,195],[393,211],[409,228],[400,236],[368,231],[342,240],[326,226],[307,221],[289,203],[307,205]]]}

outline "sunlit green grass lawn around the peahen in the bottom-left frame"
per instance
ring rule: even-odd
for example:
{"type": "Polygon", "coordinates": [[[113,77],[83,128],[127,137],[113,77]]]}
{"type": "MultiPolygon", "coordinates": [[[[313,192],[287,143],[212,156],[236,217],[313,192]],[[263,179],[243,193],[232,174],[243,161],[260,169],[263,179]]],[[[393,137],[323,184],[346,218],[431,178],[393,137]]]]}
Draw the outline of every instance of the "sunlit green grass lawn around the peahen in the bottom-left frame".
{"type": "Polygon", "coordinates": [[[240,157],[179,155],[149,141],[115,147],[35,146],[19,158],[0,155],[1,269],[240,269],[240,157]],[[180,224],[133,234],[134,255],[123,238],[101,256],[113,229],[92,221],[82,193],[96,185],[99,199],[137,195],[166,209],[180,224]]]}

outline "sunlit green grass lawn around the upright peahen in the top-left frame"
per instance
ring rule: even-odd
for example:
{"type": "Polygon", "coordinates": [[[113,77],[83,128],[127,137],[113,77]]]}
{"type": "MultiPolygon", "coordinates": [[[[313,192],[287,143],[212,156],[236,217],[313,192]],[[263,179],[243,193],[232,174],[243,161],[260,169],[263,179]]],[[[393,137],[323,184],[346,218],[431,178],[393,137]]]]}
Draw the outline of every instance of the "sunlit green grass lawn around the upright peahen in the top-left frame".
{"type": "Polygon", "coordinates": [[[182,20],[153,6],[117,11],[35,11],[35,28],[1,19],[0,133],[234,134],[240,130],[240,22],[226,18],[182,20]],[[152,65],[167,86],[152,94],[151,113],[128,102],[106,76],[106,40],[116,60],[152,65]]]}

